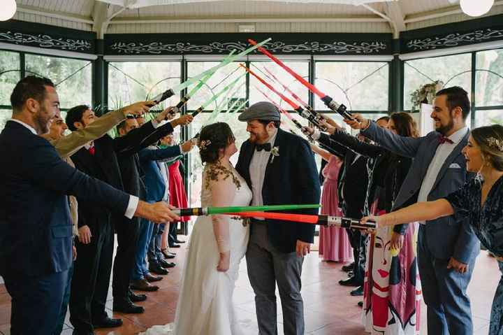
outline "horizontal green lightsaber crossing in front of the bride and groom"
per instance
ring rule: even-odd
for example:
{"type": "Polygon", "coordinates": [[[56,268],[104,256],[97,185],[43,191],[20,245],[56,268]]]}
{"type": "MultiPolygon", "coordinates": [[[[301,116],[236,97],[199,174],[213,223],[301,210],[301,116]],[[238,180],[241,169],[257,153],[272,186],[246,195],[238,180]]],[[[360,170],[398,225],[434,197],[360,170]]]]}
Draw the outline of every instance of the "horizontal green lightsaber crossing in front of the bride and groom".
{"type": "Polygon", "coordinates": [[[233,207],[193,207],[193,208],[175,208],[173,213],[178,216],[200,216],[223,213],[240,212],[262,212],[262,211],[286,211],[305,208],[320,208],[319,204],[308,205],[272,205],[272,206],[233,206],[233,207]]]}

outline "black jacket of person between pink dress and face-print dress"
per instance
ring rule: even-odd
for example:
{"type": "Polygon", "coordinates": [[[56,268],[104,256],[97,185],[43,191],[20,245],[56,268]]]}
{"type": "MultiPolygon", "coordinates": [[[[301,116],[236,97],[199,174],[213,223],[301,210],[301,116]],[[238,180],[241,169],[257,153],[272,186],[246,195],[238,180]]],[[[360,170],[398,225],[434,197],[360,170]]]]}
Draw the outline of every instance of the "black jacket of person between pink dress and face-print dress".
{"type": "Polygon", "coordinates": [[[362,218],[368,187],[367,157],[362,155],[356,159],[356,152],[333,141],[327,134],[321,134],[318,141],[342,159],[337,191],[344,215],[354,219],[362,218]]]}

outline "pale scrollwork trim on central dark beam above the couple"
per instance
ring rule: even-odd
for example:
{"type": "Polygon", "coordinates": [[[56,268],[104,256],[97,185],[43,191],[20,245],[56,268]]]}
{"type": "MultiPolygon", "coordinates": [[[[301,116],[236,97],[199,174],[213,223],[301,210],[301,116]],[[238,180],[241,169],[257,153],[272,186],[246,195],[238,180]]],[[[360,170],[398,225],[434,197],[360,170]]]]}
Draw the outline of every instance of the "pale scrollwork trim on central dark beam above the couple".
{"type": "MultiPolygon", "coordinates": [[[[210,42],[203,44],[192,44],[189,42],[163,43],[163,42],[115,42],[109,46],[109,50],[119,55],[161,55],[180,53],[203,53],[220,54],[227,53],[233,49],[245,50],[249,45],[244,42],[210,42]]],[[[383,41],[358,41],[347,43],[344,41],[334,41],[333,43],[320,43],[318,41],[304,42],[299,44],[289,44],[282,41],[271,41],[267,45],[270,52],[276,53],[323,53],[323,54],[365,54],[374,55],[386,52],[390,46],[383,41]]]]}

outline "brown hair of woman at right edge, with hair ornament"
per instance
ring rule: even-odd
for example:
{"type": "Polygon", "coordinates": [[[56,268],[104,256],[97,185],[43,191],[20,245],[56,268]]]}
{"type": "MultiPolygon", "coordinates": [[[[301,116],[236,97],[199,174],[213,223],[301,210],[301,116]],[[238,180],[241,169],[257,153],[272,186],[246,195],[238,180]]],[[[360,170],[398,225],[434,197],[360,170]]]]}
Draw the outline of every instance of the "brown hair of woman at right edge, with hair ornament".
{"type": "Polygon", "coordinates": [[[472,130],[472,138],[479,145],[486,162],[503,171],[503,126],[493,124],[472,130]]]}

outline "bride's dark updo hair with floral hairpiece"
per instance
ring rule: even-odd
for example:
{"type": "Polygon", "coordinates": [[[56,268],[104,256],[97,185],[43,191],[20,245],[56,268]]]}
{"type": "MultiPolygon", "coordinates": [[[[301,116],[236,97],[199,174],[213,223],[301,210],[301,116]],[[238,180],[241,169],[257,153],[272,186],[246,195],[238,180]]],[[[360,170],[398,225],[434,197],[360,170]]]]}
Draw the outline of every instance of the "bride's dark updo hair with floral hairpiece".
{"type": "Polygon", "coordinates": [[[220,157],[220,150],[235,141],[234,134],[225,122],[208,124],[201,129],[199,134],[199,155],[201,162],[215,163],[220,157]]]}

